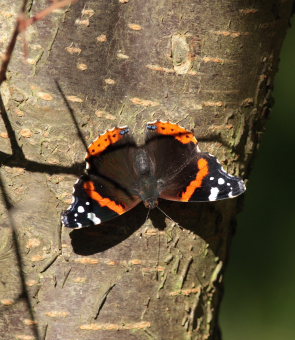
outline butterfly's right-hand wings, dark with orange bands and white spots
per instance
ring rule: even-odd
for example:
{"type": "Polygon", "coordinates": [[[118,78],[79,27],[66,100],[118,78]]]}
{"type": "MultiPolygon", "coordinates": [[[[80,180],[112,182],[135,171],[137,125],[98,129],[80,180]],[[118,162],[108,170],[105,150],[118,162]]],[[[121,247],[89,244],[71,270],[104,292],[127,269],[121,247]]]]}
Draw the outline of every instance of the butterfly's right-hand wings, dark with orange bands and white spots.
{"type": "Polygon", "coordinates": [[[172,123],[147,125],[146,148],[154,164],[160,197],[173,201],[216,201],[245,191],[218,160],[200,152],[192,132],[172,123]]]}

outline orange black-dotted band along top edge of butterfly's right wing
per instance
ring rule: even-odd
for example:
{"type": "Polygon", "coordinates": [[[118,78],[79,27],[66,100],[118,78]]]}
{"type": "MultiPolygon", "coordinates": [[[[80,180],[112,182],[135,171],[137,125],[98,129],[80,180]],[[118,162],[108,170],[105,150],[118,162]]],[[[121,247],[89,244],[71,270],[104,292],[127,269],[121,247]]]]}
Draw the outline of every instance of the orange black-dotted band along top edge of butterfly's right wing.
{"type": "Polygon", "coordinates": [[[182,126],[173,123],[163,123],[158,121],[152,125],[157,127],[157,132],[161,135],[174,136],[178,141],[183,144],[194,143],[197,144],[198,141],[191,131],[186,130],[182,126]]]}

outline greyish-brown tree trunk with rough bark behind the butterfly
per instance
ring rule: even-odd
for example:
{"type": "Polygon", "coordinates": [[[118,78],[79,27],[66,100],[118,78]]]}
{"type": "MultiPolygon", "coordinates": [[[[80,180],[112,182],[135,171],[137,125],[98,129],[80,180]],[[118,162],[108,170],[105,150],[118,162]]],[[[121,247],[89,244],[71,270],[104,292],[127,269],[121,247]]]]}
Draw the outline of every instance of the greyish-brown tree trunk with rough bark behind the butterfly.
{"type": "MultiPolygon", "coordinates": [[[[0,4],[4,52],[21,3],[0,4]]],[[[291,9],[81,0],[28,29],[28,63],[19,40],[1,88],[1,339],[221,339],[239,200],[161,201],[176,223],[159,211],[146,220],[139,205],[101,226],[61,228],[85,153],[73,117],[87,144],[115,125],[142,141],[148,121],[181,122],[246,177],[291,9]]]]}

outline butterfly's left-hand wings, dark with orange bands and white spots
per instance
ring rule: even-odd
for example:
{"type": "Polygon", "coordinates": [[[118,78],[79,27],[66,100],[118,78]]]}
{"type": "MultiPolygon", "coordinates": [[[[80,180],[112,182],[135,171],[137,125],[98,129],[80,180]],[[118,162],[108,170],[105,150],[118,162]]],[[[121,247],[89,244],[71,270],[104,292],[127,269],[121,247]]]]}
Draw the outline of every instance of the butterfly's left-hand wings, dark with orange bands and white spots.
{"type": "Polygon", "coordinates": [[[86,174],[74,185],[73,203],[63,214],[66,227],[82,228],[108,221],[137,205],[134,193],[136,151],[129,129],[115,128],[88,147],[86,174]]]}

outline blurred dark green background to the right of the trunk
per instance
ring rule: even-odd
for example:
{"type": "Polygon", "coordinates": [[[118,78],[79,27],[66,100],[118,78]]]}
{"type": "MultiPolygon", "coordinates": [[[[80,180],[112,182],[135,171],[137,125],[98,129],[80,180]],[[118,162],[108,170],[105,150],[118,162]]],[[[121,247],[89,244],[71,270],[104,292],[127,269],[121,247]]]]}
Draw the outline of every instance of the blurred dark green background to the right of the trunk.
{"type": "Polygon", "coordinates": [[[221,306],[224,340],[295,339],[295,20],[247,184],[221,306]]]}

